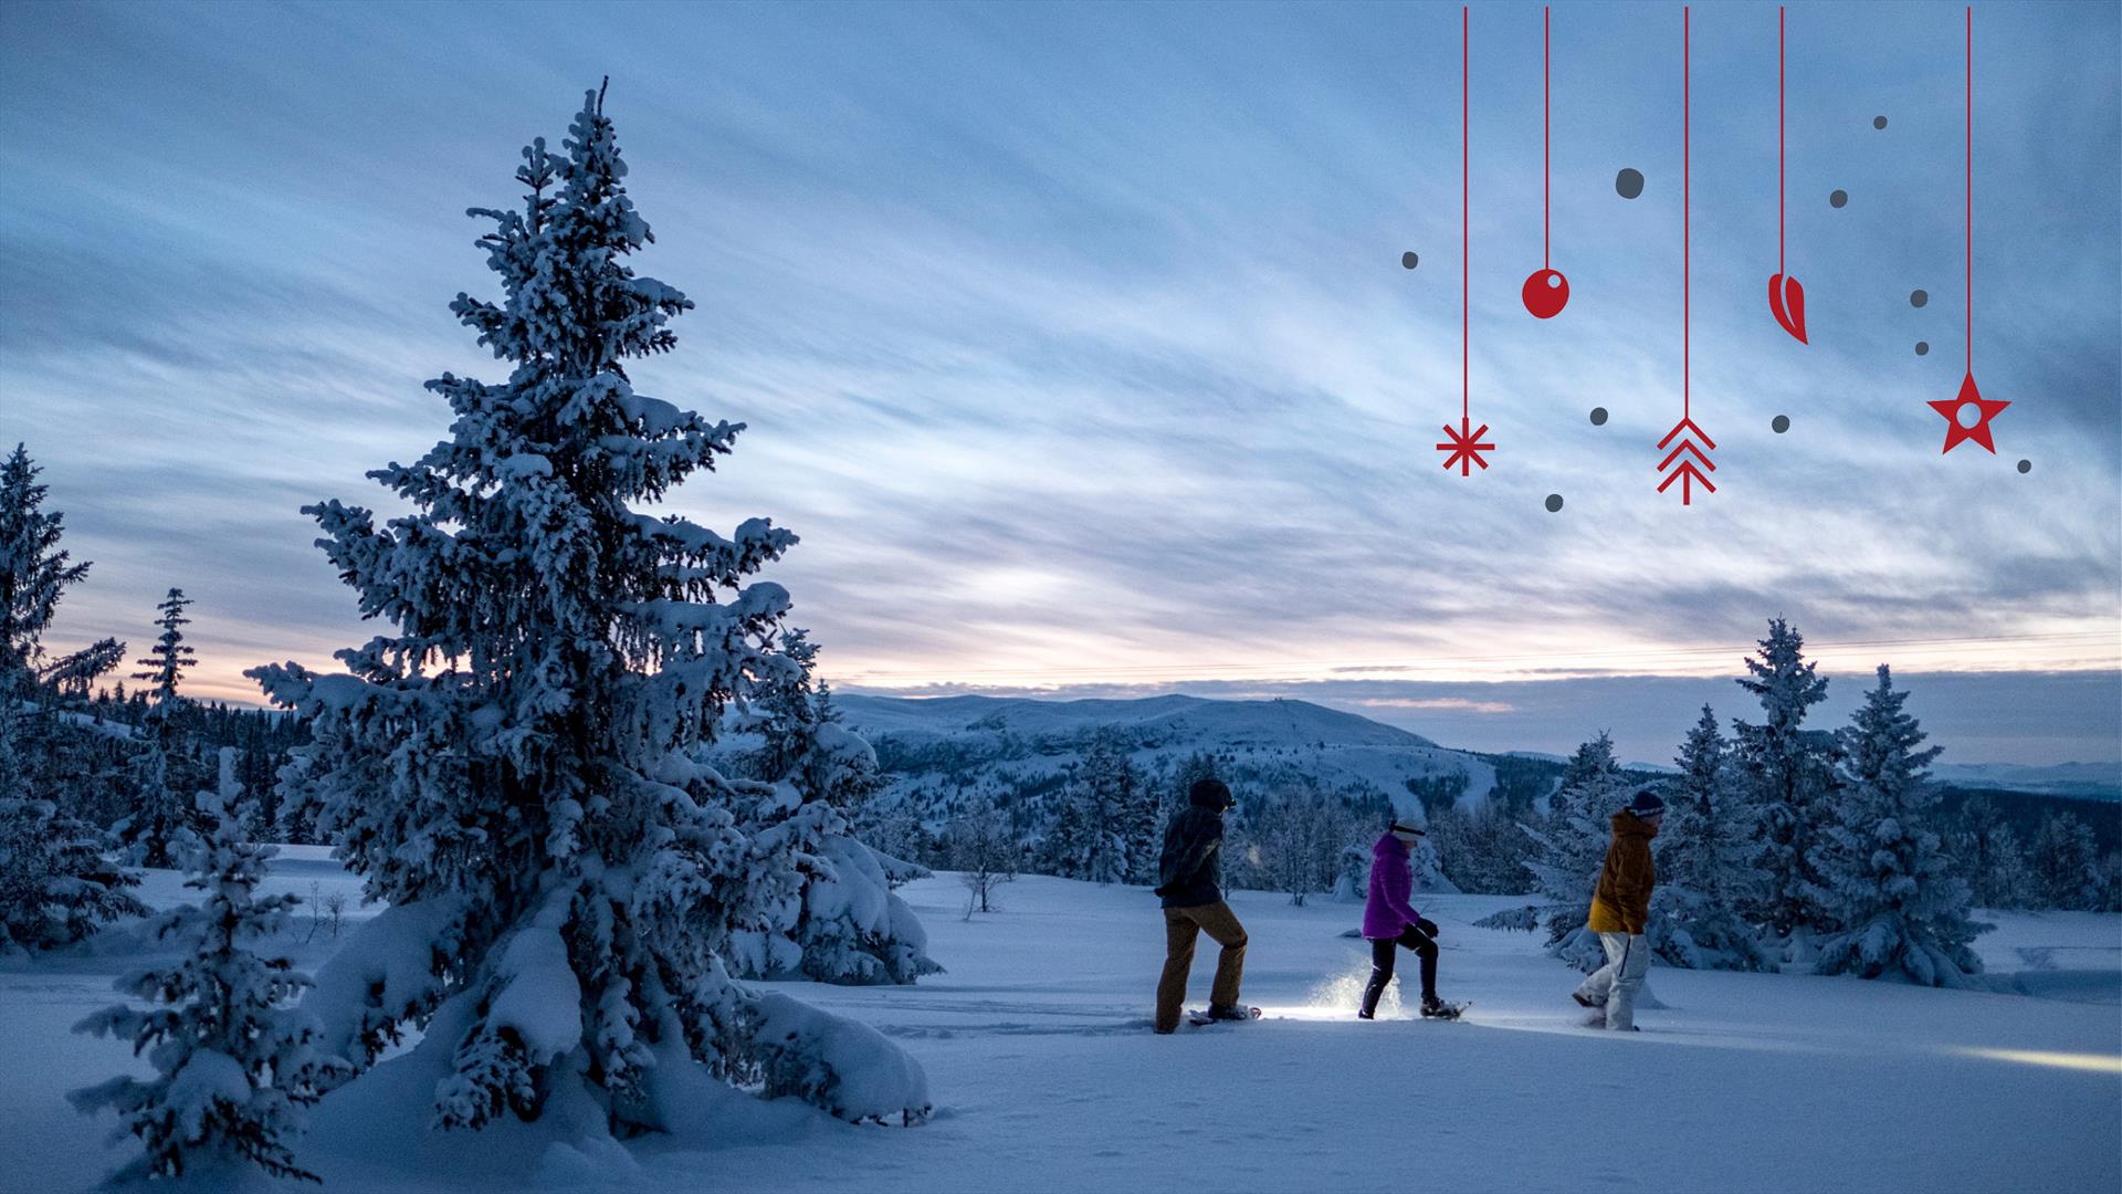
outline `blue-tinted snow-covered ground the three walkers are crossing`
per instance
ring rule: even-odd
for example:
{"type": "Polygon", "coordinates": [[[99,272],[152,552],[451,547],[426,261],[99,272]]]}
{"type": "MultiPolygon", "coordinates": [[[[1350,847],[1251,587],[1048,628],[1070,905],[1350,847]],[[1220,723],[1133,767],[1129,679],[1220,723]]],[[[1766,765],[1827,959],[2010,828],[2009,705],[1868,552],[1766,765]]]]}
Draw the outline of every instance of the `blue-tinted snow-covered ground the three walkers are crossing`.
{"type": "MultiPolygon", "coordinates": [[[[316,850],[274,886],[350,892],[316,850]]],[[[146,897],[182,892],[151,875],[146,897]]],[[[921,1128],[853,1128],[794,1105],[702,1105],[683,1137],[556,1154],[524,1130],[407,1141],[410,1115],[335,1094],[297,1156],[327,1190],[2099,1190],[2122,1188],[2122,918],[2001,914],[1980,939],[1999,988],[1657,969],[1645,1033],[1577,1026],[1577,975],[1528,935],[1473,928],[1515,903],[1417,901],[1443,924],[1462,1024],[1356,1022],[1367,958],[1350,905],[1239,892],[1258,1024],[1154,1037],[1163,960],[1140,888],[1025,877],[963,918],[951,875],[902,888],[949,969],[915,988],[806,986],[876,1024],[938,1098],[921,1128]],[[709,1145],[707,1124],[745,1141],[709,1145]]],[[[354,909],[354,916],[361,916],[354,909]]],[[[297,937],[310,922],[297,916],[297,937]]],[[[344,928],[342,937],[344,939],[344,928]]],[[[297,956],[314,967],[325,924],[297,956]]],[[[87,1188],[129,1145],[62,1094],[125,1050],[68,1026],[132,958],[100,950],[0,967],[0,1186],[87,1188]]],[[[1193,1001],[1205,999],[1203,941],[1193,1001]]],[[[1411,977],[1413,958],[1405,958],[1411,977]]],[[[388,1062],[386,1062],[388,1069],[388,1062]]]]}

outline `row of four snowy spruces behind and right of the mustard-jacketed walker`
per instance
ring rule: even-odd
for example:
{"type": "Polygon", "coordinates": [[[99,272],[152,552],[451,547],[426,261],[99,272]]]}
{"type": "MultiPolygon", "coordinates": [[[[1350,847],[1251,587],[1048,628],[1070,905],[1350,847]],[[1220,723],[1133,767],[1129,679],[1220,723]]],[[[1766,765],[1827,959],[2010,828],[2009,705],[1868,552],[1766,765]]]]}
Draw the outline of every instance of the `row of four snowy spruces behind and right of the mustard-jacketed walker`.
{"type": "MultiPolygon", "coordinates": [[[[1657,956],[1933,986],[1978,973],[1969,941],[1986,926],[1969,918],[1965,858],[1950,854],[1927,771],[1940,748],[1923,746],[1908,693],[1882,665],[1846,727],[1806,727],[1827,678],[1780,618],[1746,671],[1740,686],[1759,699],[1761,720],[1736,720],[1727,739],[1704,705],[1674,758],[1679,775],[1659,784],[1668,814],[1649,922],[1657,956]]],[[[1521,824],[1551,950],[1587,969],[1600,960],[1583,920],[1606,820],[1634,786],[1602,733],[1568,761],[1549,816],[1521,824]]]]}

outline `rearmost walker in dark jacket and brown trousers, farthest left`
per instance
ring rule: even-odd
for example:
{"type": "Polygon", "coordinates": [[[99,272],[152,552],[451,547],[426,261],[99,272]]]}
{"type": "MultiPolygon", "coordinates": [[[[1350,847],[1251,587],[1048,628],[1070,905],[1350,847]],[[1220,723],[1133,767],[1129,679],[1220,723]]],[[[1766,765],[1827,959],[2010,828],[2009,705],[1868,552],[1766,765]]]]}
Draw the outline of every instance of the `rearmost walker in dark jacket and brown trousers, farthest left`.
{"type": "Polygon", "coordinates": [[[1237,1005],[1237,984],[1246,973],[1246,926],[1222,901],[1222,814],[1233,803],[1222,780],[1197,780],[1186,807],[1165,824],[1165,854],[1156,894],[1165,901],[1165,973],[1156,982],[1156,1030],[1180,1026],[1186,1005],[1186,973],[1193,969],[1201,933],[1222,945],[1216,956],[1216,986],[1210,988],[1212,1020],[1246,1020],[1237,1005]]]}

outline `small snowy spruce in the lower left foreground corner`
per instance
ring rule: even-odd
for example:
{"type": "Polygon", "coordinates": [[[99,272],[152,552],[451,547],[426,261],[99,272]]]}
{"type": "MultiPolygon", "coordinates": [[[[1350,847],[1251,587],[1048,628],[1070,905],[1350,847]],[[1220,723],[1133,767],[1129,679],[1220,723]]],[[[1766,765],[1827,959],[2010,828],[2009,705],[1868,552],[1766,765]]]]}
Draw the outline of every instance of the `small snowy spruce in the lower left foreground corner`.
{"type": "Polygon", "coordinates": [[[83,1111],[117,1111],[117,1135],[146,1147],[115,1181],[185,1173],[225,1181],[240,1164],[316,1181],[295,1164],[293,1139],[301,1109],[344,1062],[320,1056],[316,1022],[289,1007],[308,975],[253,948],[278,937],[299,901],[257,894],[274,848],[244,841],[242,820],[216,792],[199,792],[197,820],[206,835],[182,852],[185,886],[202,899],[153,922],[155,937],[182,956],[117,982],[119,992],[157,1007],[119,1003],[74,1026],[129,1041],[155,1077],[115,1077],[68,1098],[83,1111]]]}

